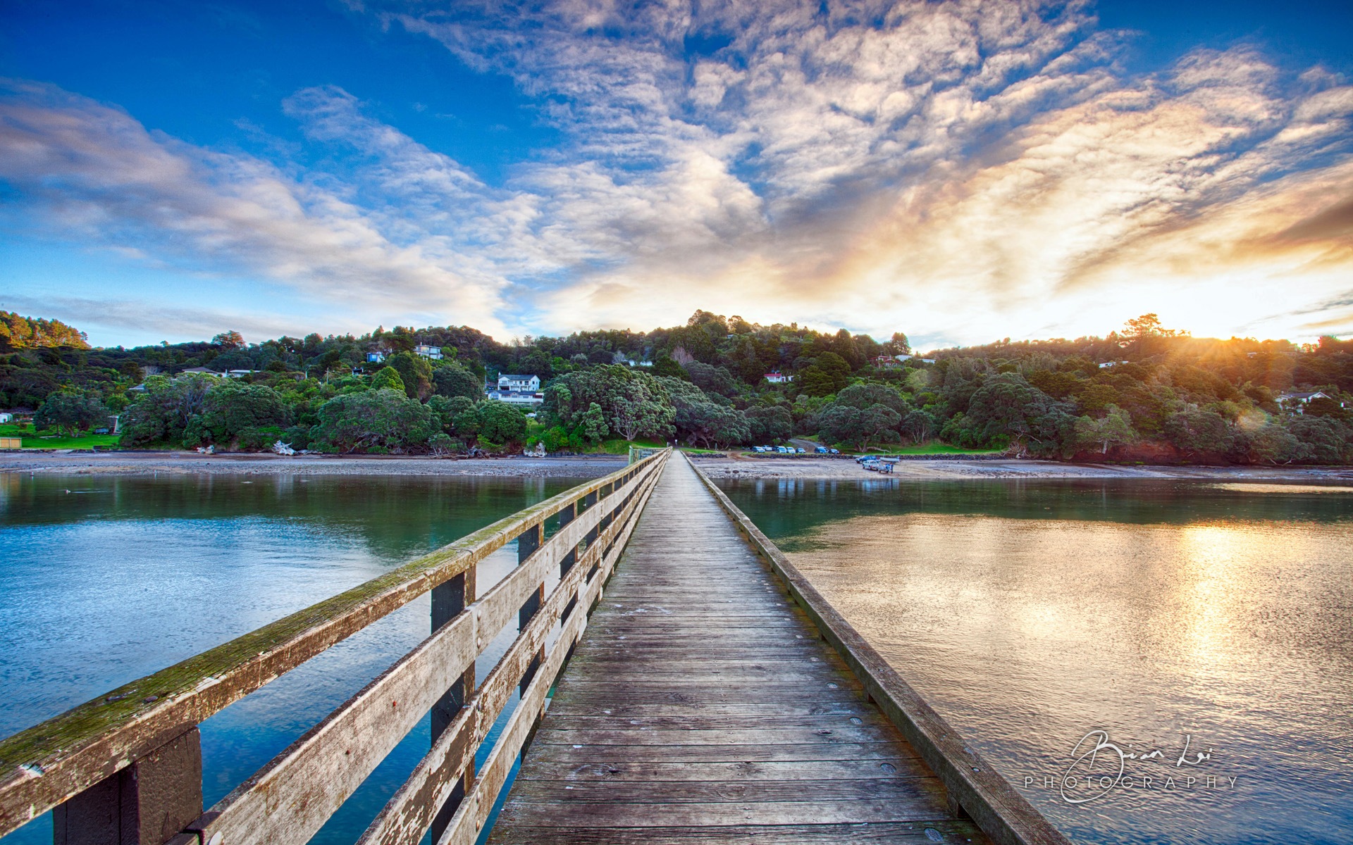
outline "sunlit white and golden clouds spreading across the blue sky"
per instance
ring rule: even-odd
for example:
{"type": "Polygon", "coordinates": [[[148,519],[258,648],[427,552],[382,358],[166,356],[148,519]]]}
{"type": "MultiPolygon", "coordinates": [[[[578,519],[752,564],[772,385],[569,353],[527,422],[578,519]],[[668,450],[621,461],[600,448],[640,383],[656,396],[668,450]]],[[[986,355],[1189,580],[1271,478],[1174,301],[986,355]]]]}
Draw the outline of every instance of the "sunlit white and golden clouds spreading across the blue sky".
{"type": "Polygon", "coordinates": [[[30,87],[0,176],[160,258],[488,331],[1353,331],[1353,87],[1256,47],[1127,77],[1088,4],[1036,0],[364,8],[509,74],[564,141],[488,185],[311,88],[284,108],[337,164],[303,170],[30,87]]]}

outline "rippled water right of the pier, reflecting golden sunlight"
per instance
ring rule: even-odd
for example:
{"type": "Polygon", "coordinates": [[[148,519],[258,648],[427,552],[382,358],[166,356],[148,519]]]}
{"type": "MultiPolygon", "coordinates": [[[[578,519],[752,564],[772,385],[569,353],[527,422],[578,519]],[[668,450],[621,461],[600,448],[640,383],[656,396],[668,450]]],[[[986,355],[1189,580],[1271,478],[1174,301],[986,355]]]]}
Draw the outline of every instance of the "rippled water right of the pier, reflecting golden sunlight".
{"type": "Polygon", "coordinates": [[[1074,841],[1353,842],[1353,489],[724,489],[1074,841]]]}

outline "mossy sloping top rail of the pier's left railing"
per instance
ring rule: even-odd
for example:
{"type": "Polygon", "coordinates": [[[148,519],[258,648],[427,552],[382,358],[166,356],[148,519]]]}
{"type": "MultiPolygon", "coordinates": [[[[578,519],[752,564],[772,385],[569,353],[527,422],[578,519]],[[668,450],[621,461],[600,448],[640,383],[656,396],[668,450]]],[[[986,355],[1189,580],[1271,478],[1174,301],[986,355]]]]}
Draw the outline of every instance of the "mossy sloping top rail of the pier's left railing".
{"type": "MultiPolygon", "coordinates": [[[[636,465],[651,479],[664,461],[636,465]]],[[[227,704],[423,592],[635,468],[540,502],[430,554],[0,742],[0,836],[181,735],[227,704]]],[[[633,483],[633,481],[632,481],[633,483]]]]}

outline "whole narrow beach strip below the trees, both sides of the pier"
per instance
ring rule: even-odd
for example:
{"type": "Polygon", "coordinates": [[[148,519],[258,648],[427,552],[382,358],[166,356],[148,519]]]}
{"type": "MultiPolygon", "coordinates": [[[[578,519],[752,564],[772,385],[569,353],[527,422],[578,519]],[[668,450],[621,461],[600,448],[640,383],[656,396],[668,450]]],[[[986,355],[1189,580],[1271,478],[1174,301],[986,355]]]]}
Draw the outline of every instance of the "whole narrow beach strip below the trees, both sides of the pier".
{"type": "MultiPolygon", "coordinates": [[[[1200,481],[1353,481],[1353,466],[1120,466],[1016,458],[909,458],[892,475],[867,472],[855,461],[820,457],[747,457],[690,454],[714,480],[737,479],[1176,479],[1200,481]]],[[[625,465],[625,456],[533,458],[446,458],[432,456],[279,456],[196,452],[11,452],[0,453],[0,473],[42,475],[331,475],[331,476],[486,476],[598,477],[625,465]]]]}

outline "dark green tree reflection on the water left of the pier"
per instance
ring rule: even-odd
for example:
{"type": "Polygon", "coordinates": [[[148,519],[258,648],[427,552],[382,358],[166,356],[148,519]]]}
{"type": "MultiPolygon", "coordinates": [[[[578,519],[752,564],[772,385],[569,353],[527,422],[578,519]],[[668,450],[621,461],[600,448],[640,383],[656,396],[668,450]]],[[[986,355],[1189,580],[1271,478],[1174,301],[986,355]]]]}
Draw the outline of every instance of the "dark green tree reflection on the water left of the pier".
{"type": "Polygon", "coordinates": [[[373,554],[399,560],[464,537],[582,481],[467,476],[0,475],[0,526],[89,519],[298,519],[356,533],[373,554]]]}

